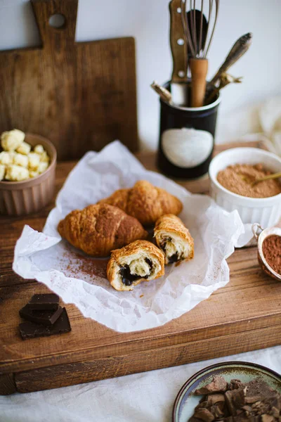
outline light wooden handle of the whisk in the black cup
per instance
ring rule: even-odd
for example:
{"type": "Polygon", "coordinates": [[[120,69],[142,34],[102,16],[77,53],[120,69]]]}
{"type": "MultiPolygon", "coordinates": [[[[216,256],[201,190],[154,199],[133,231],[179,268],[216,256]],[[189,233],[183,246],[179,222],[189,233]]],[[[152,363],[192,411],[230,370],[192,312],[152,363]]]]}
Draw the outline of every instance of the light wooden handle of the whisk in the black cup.
{"type": "Polygon", "coordinates": [[[206,78],[208,72],[207,58],[190,58],[191,71],[191,106],[202,107],[206,92],[206,78]]]}

